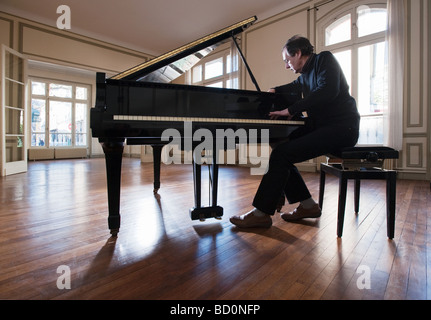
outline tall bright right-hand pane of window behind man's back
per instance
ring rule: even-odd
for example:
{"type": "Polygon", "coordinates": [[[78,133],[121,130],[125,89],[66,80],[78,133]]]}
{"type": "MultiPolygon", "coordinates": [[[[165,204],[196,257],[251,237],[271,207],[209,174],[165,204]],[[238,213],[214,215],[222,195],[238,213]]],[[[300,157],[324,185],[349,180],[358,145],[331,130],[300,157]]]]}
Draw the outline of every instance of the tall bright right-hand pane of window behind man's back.
{"type": "Polygon", "coordinates": [[[388,104],[388,64],[385,42],[358,51],[358,109],[361,115],[383,112],[388,104]]]}

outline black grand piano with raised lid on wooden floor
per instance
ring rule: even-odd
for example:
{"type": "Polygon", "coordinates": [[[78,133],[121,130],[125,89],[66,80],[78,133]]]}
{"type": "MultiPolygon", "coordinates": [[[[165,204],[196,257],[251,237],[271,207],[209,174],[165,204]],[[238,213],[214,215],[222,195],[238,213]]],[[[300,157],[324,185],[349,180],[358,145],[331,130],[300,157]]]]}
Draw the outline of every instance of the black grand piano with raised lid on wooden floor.
{"type": "MultiPolygon", "coordinates": [[[[199,141],[185,132],[185,122],[191,126],[191,132],[202,128],[214,133],[217,129],[267,129],[271,142],[285,139],[303,124],[301,120],[268,118],[271,110],[286,108],[299,94],[281,96],[260,91],[236,38],[256,20],[251,17],[241,21],[109,79],[104,73],[97,74],[96,105],[91,109],[90,127],[105,154],[108,226],[113,236],[120,228],[121,163],[125,143],[153,147],[154,192],[157,192],[161,151],[169,143],[161,137],[168,128],[180,132],[183,147],[190,142],[194,148],[199,141]],[[256,91],[170,83],[226,41],[236,45],[256,91]]],[[[190,209],[193,220],[223,215],[223,208],[217,205],[217,155],[212,152],[213,161],[209,164],[211,199],[208,206],[201,205],[201,164],[193,161],[195,205],[190,209]]]]}

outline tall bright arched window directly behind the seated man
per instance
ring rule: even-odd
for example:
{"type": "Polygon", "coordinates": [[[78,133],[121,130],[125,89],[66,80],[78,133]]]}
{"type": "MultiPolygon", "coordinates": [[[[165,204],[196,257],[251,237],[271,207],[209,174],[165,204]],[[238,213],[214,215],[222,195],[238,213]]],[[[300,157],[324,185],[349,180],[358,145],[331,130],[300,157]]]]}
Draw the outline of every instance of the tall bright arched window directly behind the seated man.
{"type": "Polygon", "coordinates": [[[383,110],[388,104],[386,24],[385,5],[356,5],[323,28],[324,50],[334,53],[358,104],[358,144],[383,144],[383,110]]]}

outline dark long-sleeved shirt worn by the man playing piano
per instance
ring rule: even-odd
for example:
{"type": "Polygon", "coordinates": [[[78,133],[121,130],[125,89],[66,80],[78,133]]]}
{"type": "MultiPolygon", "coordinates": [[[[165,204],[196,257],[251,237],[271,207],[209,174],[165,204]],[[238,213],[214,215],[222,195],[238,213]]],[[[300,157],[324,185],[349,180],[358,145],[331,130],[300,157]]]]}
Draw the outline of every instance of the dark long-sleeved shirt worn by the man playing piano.
{"type": "Polygon", "coordinates": [[[295,81],[275,88],[276,93],[301,92],[289,106],[291,115],[307,112],[315,126],[342,125],[358,129],[360,116],[355,99],[338,61],[329,51],[312,54],[295,81]]]}

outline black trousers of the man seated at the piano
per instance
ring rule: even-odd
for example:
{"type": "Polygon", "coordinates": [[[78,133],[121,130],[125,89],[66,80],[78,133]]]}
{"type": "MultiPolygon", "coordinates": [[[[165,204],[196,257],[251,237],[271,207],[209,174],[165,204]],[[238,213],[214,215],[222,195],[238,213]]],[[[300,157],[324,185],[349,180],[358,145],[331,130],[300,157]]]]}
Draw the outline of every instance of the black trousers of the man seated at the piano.
{"type": "Polygon", "coordinates": [[[262,177],[253,206],[273,215],[283,193],[291,204],[310,198],[311,194],[294,164],[340,148],[353,147],[358,136],[359,129],[339,125],[295,130],[288,141],[272,150],[268,170],[262,177]]]}

